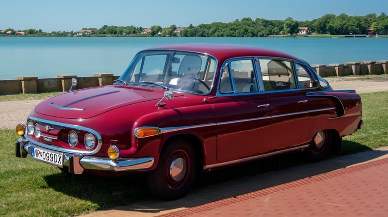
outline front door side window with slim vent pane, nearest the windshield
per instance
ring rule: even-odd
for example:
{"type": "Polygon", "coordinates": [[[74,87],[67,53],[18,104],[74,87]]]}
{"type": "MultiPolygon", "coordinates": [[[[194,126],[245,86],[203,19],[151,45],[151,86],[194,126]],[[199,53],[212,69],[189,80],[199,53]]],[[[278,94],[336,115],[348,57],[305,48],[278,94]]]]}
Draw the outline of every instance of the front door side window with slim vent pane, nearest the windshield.
{"type": "Polygon", "coordinates": [[[257,92],[257,81],[252,59],[230,61],[226,65],[220,84],[220,93],[257,92]]]}

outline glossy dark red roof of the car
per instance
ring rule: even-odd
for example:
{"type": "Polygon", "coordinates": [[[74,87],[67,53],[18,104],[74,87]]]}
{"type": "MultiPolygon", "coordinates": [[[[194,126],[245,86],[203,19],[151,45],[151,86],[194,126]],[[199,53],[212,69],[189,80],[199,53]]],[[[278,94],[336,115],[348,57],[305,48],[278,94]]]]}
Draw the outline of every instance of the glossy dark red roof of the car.
{"type": "Polygon", "coordinates": [[[261,57],[276,57],[276,58],[285,58],[295,61],[304,62],[303,60],[292,56],[290,54],[285,54],[282,52],[242,46],[242,45],[229,45],[229,44],[180,44],[180,45],[165,45],[154,47],[146,50],[180,50],[180,51],[192,51],[199,52],[203,54],[210,54],[217,57],[221,62],[229,58],[242,57],[242,56],[261,56],[261,57]]]}

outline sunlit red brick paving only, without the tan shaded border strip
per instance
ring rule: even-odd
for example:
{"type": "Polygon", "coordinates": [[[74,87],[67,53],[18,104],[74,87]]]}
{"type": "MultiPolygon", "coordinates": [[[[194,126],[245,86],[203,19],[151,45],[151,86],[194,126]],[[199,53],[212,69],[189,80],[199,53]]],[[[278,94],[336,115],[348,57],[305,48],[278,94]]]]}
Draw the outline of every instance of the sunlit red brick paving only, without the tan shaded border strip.
{"type": "Polygon", "coordinates": [[[186,209],[163,217],[388,216],[388,159],[186,209]]]}

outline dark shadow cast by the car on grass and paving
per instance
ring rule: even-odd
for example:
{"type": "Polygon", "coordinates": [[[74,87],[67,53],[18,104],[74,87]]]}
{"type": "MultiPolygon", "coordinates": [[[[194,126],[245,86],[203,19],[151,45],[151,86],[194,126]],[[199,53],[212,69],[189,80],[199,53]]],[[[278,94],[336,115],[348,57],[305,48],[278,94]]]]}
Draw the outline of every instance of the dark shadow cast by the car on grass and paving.
{"type": "Polygon", "coordinates": [[[333,153],[328,160],[317,163],[307,161],[303,153],[293,153],[199,173],[189,194],[173,202],[155,199],[148,191],[144,173],[100,177],[62,172],[48,175],[45,180],[56,191],[96,203],[98,210],[114,207],[115,210],[160,215],[166,211],[200,206],[286,184],[387,154],[385,151],[372,151],[362,158],[349,155],[368,150],[371,149],[365,145],[344,141],[343,151],[333,153]]]}

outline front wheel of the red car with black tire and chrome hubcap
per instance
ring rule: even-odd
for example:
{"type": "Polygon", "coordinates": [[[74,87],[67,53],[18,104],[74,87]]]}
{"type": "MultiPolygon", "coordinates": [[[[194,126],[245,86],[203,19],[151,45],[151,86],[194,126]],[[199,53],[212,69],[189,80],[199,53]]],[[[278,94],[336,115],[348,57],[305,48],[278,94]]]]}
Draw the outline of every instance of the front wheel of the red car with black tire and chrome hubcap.
{"type": "Polygon", "coordinates": [[[166,144],[160,155],[158,167],[148,172],[150,191],[163,200],[183,197],[194,183],[196,174],[195,150],[183,139],[166,144]]]}

